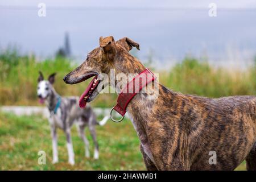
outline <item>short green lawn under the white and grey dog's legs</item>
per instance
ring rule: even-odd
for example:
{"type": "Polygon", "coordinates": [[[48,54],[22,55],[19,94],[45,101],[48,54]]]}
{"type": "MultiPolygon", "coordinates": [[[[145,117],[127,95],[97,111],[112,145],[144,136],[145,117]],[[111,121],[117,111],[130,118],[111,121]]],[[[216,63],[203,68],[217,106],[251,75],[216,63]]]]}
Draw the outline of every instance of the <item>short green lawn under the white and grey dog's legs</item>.
{"type": "MultiPolygon", "coordinates": [[[[88,133],[88,132],[86,132],[88,133]]],[[[52,146],[48,121],[39,116],[16,117],[0,113],[0,169],[1,170],[145,170],[139,140],[131,122],[108,121],[97,126],[100,159],[85,158],[84,143],[72,130],[75,166],[68,164],[63,131],[59,134],[59,163],[52,164],[52,146]],[[38,164],[38,151],[46,152],[46,165],[38,164]]],[[[90,154],[93,156],[92,138],[90,154]]],[[[237,170],[245,170],[243,162],[237,170]]]]}

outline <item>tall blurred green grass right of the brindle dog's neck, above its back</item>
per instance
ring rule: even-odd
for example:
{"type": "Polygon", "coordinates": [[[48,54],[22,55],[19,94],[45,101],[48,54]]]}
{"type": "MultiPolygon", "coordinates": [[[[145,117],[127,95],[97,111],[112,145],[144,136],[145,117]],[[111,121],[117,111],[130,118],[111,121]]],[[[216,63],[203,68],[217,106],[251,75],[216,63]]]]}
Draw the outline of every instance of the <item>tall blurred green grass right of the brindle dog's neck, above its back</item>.
{"type": "Polygon", "coordinates": [[[159,78],[163,85],[184,94],[211,98],[256,95],[256,64],[245,71],[229,70],[187,57],[159,78]]]}

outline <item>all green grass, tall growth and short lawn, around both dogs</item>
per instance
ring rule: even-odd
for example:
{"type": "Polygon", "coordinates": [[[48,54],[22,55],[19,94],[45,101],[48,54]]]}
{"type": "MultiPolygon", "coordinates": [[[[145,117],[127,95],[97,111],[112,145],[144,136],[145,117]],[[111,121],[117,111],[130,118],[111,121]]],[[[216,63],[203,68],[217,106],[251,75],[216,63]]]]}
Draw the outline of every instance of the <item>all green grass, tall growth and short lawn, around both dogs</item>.
{"type": "MultiPolygon", "coordinates": [[[[36,60],[33,55],[20,55],[15,49],[0,53],[0,106],[1,105],[38,105],[36,85],[38,71],[47,76],[57,72],[56,91],[61,96],[79,96],[87,82],[67,85],[62,78],[76,64],[56,57],[55,59],[36,60]]],[[[154,68],[152,68],[154,71],[154,68]]],[[[197,94],[206,97],[234,95],[256,95],[256,60],[252,67],[244,71],[227,71],[214,68],[205,61],[185,57],[181,63],[159,73],[160,82],[168,88],[184,94],[197,94]]],[[[92,102],[97,107],[112,107],[117,94],[100,94],[92,102]]],[[[108,122],[97,126],[100,144],[100,160],[84,157],[84,144],[73,129],[73,146],[76,165],[69,166],[65,147],[65,136],[59,131],[60,163],[51,164],[52,147],[48,121],[39,116],[15,117],[0,113],[0,169],[141,169],[144,170],[139,140],[133,126],[127,120],[121,123],[108,122]],[[47,165],[39,165],[38,151],[47,154],[47,165]]],[[[92,139],[89,137],[90,141],[92,139]]],[[[91,142],[92,143],[92,142],[91,142]]],[[[93,147],[91,147],[91,156],[93,147]]],[[[245,169],[243,162],[237,169],[245,169]]]]}

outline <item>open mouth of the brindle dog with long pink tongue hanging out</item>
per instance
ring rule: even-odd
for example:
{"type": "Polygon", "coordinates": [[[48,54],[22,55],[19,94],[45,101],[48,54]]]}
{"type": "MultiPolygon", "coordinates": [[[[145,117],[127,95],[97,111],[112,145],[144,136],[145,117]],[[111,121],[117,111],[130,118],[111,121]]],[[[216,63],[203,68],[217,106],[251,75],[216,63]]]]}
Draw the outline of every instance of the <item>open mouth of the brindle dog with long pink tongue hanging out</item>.
{"type": "MultiPolygon", "coordinates": [[[[93,77],[94,75],[90,75],[90,77],[93,77]]],[[[90,77],[86,77],[85,80],[87,80],[90,77]]],[[[84,81],[84,80],[83,80],[84,81]]],[[[100,80],[98,80],[98,76],[96,75],[92,81],[90,81],[90,84],[85,89],[84,93],[82,93],[80,100],[79,100],[79,106],[81,108],[84,108],[86,106],[87,102],[92,101],[98,93],[94,92],[97,89],[98,84],[100,83],[100,80]]]]}

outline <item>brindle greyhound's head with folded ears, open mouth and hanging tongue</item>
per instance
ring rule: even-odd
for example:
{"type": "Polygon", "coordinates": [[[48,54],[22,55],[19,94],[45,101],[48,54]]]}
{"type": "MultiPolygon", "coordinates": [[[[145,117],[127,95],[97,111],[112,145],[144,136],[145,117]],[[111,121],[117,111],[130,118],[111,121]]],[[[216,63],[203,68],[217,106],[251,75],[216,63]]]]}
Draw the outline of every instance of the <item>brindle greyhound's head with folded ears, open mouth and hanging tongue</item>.
{"type": "Polygon", "coordinates": [[[63,78],[67,84],[77,84],[95,76],[80,98],[80,107],[85,107],[86,102],[94,100],[104,89],[104,86],[97,88],[101,73],[110,75],[111,69],[114,69],[115,73],[125,74],[133,73],[134,69],[143,70],[143,65],[129,53],[133,47],[139,50],[139,44],[129,38],[115,42],[113,36],[100,37],[100,47],[89,52],[84,63],[63,78]]]}

